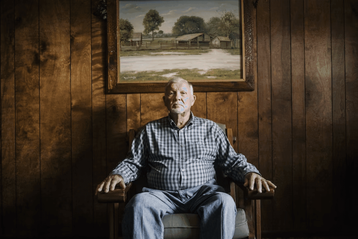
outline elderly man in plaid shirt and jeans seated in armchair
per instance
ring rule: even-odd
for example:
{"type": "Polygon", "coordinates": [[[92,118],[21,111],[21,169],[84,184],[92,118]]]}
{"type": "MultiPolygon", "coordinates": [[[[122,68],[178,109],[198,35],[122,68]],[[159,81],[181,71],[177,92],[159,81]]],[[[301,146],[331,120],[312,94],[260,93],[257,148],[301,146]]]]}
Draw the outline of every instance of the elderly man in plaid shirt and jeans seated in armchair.
{"type": "Polygon", "coordinates": [[[136,180],[149,167],[142,193],[125,208],[124,238],[163,238],[161,218],[165,214],[197,213],[201,238],[232,239],[236,205],[215,181],[214,163],[224,173],[253,190],[254,184],[270,191],[272,182],[261,177],[255,166],[237,154],[226,135],[211,120],[195,117],[193,86],[186,80],[170,80],[164,104],[169,115],[140,130],[126,159],[97,187],[97,192],[114,190],[119,183],[136,180]]]}

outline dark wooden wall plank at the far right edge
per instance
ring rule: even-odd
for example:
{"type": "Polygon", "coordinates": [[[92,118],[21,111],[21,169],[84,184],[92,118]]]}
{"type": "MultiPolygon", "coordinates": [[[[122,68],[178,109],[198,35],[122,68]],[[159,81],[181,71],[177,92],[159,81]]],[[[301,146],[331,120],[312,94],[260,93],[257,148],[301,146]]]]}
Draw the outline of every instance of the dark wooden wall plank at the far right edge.
{"type": "MultiPolygon", "coordinates": [[[[355,175],[358,169],[358,2],[344,1],[344,46],[345,46],[345,100],[346,100],[346,140],[347,140],[347,192],[355,186],[355,175]]],[[[348,197],[348,218],[357,214],[358,206],[355,199],[348,197]]],[[[356,228],[355,220],[347,223],[349,230],[356,228]]],[[[354,231],[354,230],[353,230],[354,231]]]]}

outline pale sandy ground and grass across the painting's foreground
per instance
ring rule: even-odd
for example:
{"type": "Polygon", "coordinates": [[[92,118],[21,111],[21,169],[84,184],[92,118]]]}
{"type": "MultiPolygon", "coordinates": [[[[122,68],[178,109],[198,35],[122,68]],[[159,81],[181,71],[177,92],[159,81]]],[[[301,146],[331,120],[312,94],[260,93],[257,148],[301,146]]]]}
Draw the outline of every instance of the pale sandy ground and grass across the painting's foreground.
{"type": "Polygon", "coordinates": [[[121,52],[120,82],[163,82],[242,78],[240,49],[194,49],[121,52]]]}

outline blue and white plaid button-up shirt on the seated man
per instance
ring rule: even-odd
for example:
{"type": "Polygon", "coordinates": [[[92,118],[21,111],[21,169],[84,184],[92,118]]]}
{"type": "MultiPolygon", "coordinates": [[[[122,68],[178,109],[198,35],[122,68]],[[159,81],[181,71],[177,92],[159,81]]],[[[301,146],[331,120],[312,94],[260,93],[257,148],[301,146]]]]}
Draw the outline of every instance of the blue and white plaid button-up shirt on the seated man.
{"type": "Polygon", "coordinates": [[[149,187],[178,191],[214,178],[214,163],[242,183],[246,173],[259,173],[245,156],[234,151],[213,121],[191,113],[187,125],[179,129],[168,115],[140,129],[127,158],[111,174],[119,174],[129,183],[139,177],[142,168],[148,167],[149,187]]]}

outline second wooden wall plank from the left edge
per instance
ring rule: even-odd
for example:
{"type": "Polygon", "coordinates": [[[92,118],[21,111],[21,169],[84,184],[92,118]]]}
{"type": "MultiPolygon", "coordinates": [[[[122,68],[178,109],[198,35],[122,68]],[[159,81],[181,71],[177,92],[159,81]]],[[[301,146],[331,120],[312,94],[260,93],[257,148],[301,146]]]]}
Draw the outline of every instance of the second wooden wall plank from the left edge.
{"type": "Polygon", "coordinates": [[[41,223],[38,1],[15,3],[16,234],[41,223]]]}

